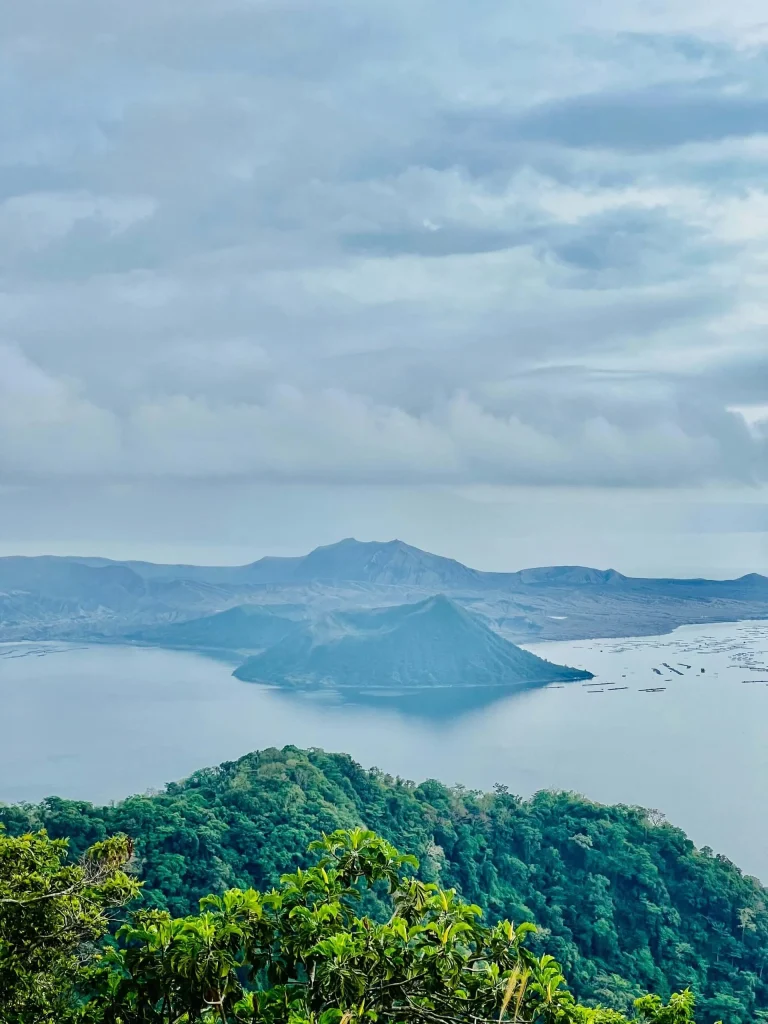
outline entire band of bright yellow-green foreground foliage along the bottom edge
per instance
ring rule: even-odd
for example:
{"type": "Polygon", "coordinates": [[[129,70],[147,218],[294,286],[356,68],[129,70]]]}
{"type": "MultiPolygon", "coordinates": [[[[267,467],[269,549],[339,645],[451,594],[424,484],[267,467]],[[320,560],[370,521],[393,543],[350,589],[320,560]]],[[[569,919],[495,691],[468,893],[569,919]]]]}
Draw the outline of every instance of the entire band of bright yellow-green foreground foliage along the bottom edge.
{"type": "MultiPolygon", "coordinates": [[[[173,919],[109,910],[137,894],[116,836],[66,863],[66,840],[0,835],[0,1018],[6,1024],[630,1024],[580,1006],[536,932],[480,922],[418,860],[364,828],[265,893],[230,889],[173,919]],[[358,914],[365,896],[384,920],[358,914]],[[98,940],[101,939],[101,943],[98,940]]],[[[634,1002],[633,1022],[687,1024],[693,994],[634,1002]]]]}

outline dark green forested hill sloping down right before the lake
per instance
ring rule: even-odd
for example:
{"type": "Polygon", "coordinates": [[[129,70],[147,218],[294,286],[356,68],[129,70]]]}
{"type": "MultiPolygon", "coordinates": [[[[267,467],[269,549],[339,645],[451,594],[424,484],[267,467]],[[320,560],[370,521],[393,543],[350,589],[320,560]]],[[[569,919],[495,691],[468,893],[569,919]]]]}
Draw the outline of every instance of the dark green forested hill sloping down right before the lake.
{"type": "Polygon", "coordinates": [[[304,863],[319,831],[366,824],[492,918],[536,922],[540,951],[562,963],[584,999],[625,1008],[646,990],[690,986],[702,1024],[768,1020],[768,892],[641,809],[417,785],[289,746],[110,807],[0,807],[0,821],[16,835],[44,826],[69,837],[74,853],[127,833],[145,903],[174,913],[212,891],[268,886],[304,863]]]}

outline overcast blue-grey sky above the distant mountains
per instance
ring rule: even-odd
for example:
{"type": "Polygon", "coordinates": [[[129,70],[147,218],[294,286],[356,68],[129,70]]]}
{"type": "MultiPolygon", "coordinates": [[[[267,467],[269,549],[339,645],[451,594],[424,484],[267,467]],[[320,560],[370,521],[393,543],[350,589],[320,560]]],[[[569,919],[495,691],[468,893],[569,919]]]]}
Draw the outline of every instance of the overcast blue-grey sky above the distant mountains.
{"type": "Polygon", "coordinates": [[[768,572],[757,0],[0,6],[0,554],[768,572]]]}

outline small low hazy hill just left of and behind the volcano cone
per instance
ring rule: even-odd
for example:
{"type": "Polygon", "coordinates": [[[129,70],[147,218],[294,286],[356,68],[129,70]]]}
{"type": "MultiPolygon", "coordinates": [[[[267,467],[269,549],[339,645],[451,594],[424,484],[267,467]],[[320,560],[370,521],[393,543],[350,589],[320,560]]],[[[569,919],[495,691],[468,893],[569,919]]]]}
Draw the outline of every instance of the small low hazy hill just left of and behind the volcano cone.
{"type": "Polygon", "coordinates": [[[183,623],[139,630],[130,639],[160,647],[260,650],[278,643],[296,629],[296,623],[258,605],[237,605],[226,611],[183,623]]]}

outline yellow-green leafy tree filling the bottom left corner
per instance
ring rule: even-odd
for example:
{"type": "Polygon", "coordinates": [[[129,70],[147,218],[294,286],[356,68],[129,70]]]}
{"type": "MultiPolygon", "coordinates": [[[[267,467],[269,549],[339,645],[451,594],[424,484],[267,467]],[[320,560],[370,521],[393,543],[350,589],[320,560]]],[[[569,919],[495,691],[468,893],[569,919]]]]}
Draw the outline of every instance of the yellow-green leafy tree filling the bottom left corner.
{"type": "Polygon", "coordinates": [[[123,870],[125,836],[91,847],[67,863],[67,841],[45,833],[0,831],[0,1020],[61,1022],[80,1016],[76,986],[109,914],[139,886],[123,870]]]}

